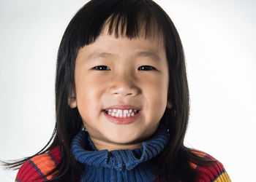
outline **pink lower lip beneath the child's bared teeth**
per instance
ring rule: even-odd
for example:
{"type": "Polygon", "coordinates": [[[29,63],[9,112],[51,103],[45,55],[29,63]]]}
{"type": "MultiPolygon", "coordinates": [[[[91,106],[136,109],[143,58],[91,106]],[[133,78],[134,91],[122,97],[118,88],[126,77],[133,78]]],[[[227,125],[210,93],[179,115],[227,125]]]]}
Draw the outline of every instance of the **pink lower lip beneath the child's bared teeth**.
{"type": "Polygon", "coordinates": [[[114,124],[131,124],[138,119],[138,116],[140,116],[140,113],[141,113],[141,111],[138,111],[138,114],[135,114],[134,116],[115,117],[115,116],[111,116],[111,114],[105,113],[105,111],[102,111],[102,112],[104,116],[108,119],[108,121],[113,122],[114,124]]]}

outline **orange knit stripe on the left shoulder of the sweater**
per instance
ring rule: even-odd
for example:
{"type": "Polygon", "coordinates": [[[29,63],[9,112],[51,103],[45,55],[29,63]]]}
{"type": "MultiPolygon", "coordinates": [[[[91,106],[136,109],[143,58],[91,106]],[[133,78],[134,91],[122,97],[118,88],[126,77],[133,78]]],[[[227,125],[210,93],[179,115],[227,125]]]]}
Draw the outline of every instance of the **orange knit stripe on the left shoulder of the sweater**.
{"type": "MultiPolygon", "coordinates": [[[[48,154],[40,154],[38,156],[35,156],[31,159],[31,161],[34,162],[35,165],[37,165],[43,175],[47,175],[51,170],[53,170],[54,167],[56,167],[55,163],[48,154]]],[[[50,178],[52,177],[53,174],[48,175],[46,178],[50,180],[50,178]]]]}

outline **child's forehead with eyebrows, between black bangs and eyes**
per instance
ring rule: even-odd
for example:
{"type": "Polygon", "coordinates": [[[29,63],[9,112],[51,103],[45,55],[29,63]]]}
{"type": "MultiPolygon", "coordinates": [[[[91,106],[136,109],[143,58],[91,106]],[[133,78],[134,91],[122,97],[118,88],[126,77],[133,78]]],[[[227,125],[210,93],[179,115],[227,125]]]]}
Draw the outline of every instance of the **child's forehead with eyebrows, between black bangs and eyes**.
{"type": "Polygon", "coordinates": [[[166,60],[165,47],[162,37],[145,36],[140,31],[138,36],[128,38],[125,33],[118,34],[109,32],[109,26],[105,25],[97,39],[84,47],[81,47],[78,53],[78,60],[86,58],[86,60],[94,60],[97,58],[148,58],[155,60],[156,63],[162,63],[166,60]],[[162,60],[162,61],[159,61],[162,60]]]}

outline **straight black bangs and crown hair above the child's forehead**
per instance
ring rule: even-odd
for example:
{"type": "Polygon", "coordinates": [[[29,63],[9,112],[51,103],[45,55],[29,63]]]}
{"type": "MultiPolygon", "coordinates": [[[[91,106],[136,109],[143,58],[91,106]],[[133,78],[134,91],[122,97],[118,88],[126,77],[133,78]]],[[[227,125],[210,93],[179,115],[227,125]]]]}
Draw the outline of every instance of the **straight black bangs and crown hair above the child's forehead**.
{"type": "Polygon", "coordinates": [[[108,34],[136,39],[162,40],[168,22],[163,10],[154,1],[98,0],[89,1],[70,23],[73,42],[79,49],[92,44],[108,28],[108,34]],[[73,22],[73,23],[72,23],[73,22]],[[76,26],[76,27],[74,27],[76,26]],[[75,31],[75,32],[74,32],[75,31]]]}

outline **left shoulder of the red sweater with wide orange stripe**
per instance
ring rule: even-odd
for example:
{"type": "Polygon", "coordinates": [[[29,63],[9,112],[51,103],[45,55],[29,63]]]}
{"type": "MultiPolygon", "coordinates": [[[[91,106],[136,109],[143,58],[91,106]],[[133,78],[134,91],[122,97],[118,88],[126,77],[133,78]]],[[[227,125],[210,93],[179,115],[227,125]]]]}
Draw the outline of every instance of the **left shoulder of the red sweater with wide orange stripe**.
{"type": "Polygon", "coordinates": [[[48,181],[52,175],[44,177],[61,161],[60,147],[56,146],[54,149],[45,154],[39,154],[27,160],[21,165],[18,170],[15,182],[22,181],[48,181]]]}

